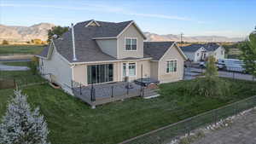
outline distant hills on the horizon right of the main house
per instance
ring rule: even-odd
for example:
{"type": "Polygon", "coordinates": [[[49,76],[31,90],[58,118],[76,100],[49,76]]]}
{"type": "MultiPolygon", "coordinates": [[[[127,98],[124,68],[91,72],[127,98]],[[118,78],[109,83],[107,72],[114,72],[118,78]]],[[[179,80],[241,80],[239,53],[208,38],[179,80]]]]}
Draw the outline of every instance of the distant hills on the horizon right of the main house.
{"type": "MultiPolygon", "coordinates": [[[[180,35],[158,35],[155,33],[144,32],[147,41],[180,41],[180,35]]],[[[185,42],[239,42],[244,40],[241,37],[221,37],[221,36],[195,36],[183,37],[185,42]]]]}

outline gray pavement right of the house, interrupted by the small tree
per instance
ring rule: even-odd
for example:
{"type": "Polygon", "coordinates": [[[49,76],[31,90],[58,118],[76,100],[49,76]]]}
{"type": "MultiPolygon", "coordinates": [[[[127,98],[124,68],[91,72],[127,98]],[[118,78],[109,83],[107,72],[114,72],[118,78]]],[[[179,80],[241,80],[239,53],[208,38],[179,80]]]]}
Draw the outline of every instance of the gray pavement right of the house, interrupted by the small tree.
{"type": "MultiPolygon", "coordinates": [[[[185,79],[193,79],[196,75],[200,75],[201,72],[205,72],[205,69],[201,68],[185,68],[185,79]]],[[[243,80],[253,80],[253,76],[250,74],[244,74],[241,72],[226,72],[226,71],[218,71],[219,77],[224,78],[236,78],[236,79],[243,79],[243,80]]],[[[256,81],[256,78],[254,78],[256,81]]]]}

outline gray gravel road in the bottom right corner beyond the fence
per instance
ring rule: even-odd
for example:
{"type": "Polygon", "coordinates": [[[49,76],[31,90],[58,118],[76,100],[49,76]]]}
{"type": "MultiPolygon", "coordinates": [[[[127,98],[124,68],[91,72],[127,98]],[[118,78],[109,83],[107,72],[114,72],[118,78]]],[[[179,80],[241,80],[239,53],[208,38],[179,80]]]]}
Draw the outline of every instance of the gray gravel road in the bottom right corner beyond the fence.
{"type": "Polygon", "coordinates": [[[212,131],[193,144],[256,144],[256,111],[234,120],[230,127],[212,131]]]}

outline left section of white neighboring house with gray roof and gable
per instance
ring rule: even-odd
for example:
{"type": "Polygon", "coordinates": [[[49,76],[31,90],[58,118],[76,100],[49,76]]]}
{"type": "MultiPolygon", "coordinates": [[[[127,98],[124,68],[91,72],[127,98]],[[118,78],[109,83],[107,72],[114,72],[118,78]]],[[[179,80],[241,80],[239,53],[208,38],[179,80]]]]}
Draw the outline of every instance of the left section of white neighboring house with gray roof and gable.
{"type": "Polygon", "coordinates": [[[207,58],[207,50],[203,44],[191,44],[181,48],[189,60],[199,62],[207,58]]]}

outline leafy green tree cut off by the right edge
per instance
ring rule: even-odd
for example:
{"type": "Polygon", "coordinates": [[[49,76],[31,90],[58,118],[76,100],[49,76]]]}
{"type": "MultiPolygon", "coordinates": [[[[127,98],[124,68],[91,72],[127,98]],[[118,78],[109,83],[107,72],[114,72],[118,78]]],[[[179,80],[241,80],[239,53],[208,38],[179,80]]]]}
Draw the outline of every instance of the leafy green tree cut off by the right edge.
{"type": "Polygon", "coordinates": [[[244,62],[246,71],[256,77],[256,27],[247,41],[240,44],[241,60],[244,62]]]}

